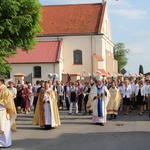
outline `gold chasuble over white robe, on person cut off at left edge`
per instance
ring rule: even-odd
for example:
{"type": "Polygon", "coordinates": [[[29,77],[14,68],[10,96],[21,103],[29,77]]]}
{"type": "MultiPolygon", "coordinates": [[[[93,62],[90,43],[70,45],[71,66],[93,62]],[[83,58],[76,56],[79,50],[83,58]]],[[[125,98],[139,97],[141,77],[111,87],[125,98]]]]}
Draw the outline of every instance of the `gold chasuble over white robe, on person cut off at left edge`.
{"type": "Polygon", "coordinates": [[[10,120],[10,128],[16,131],[15,119],[17,117],[13,95],[10,90],[2,84],[0,86],[0,105],[5,109],[0,113],[0,134],[4,133],[6,117],[10,120]]]}

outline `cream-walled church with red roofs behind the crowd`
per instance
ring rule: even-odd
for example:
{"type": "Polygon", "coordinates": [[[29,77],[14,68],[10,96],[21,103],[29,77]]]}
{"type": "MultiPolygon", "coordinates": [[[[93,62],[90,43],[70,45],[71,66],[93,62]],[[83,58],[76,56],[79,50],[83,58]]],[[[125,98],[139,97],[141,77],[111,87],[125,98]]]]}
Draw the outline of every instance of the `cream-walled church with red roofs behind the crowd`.
{"type": "Polygon", "coordinates": [[[68,74],[76,80],[97,69],[104,76],[118,72],[107,2],[42,6],[41,26],[37,46],[29,53],[19,50],[8,59],[11,78],[21,72],[25,80],[35,83],[47,80],[48,73],[57,73],[58,80],[66,81],[68,74]]]}

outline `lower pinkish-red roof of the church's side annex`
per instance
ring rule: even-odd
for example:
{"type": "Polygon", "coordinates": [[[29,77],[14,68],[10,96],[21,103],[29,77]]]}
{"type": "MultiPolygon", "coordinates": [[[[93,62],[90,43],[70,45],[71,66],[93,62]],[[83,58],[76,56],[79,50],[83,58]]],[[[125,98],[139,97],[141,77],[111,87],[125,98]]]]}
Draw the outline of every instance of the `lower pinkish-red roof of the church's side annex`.
{"type": "Polygon", "coordinates": [[[59,62],[62,41],[38,42],[36,47],[27,52],[18,50],[18,54],[7,59],[10,63],[47,63],[59,62]]]}

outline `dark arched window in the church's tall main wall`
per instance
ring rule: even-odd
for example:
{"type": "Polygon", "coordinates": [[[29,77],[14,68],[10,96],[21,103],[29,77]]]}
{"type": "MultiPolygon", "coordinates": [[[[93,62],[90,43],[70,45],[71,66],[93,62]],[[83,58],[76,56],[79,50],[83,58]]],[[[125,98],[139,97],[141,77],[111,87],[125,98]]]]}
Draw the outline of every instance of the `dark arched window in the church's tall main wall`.
{"type": "Polygon", "coordinates": [[[82,64],[82,51],[75,50],[73,51],[74,64],[82,64]]]}

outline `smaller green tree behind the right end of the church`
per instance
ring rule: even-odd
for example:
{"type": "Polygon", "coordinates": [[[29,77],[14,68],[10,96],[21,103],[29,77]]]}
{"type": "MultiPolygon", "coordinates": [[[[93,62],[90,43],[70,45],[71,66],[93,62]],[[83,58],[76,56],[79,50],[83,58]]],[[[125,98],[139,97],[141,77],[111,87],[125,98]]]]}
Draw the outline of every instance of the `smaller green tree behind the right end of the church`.
{"type": "Polygon", "coordinates": [[[114,46],[114,58],[118,61],[118,72],[128,63],[126,54],[129,53],[129,49],[125,48],[124,43],[116,43],[114,46]]]}

